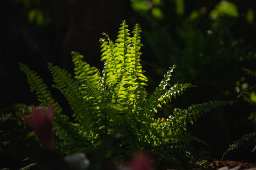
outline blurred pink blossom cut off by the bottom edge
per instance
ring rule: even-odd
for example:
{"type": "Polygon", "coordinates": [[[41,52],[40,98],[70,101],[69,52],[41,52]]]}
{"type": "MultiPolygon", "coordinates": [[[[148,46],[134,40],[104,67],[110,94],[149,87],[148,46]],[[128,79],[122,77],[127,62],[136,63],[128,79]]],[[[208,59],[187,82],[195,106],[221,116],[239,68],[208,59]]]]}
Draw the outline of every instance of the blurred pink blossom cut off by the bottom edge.
{"type": "Polygon", "coordinates": [[[152,163],[149,157],[143,153],[134,156],[130,166],[131,170],[152,170],[152,163]]]}

